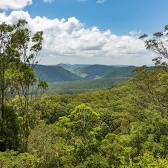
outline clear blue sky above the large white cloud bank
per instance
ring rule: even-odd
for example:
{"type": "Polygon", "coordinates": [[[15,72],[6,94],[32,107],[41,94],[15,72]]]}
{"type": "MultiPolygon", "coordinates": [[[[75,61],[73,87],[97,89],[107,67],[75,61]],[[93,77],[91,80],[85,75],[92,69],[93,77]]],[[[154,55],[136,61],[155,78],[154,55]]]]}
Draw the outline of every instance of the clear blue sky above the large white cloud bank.
{"type": "Polygon", "coordinates": [[[44,3],[35,0],[26,8],[32,16],[69,18],[75,16],[87,26],[102,30],[111,29],[116,34],[130,31],[152,33],[168,23],[168,0],[55,0],[44,3]]]}

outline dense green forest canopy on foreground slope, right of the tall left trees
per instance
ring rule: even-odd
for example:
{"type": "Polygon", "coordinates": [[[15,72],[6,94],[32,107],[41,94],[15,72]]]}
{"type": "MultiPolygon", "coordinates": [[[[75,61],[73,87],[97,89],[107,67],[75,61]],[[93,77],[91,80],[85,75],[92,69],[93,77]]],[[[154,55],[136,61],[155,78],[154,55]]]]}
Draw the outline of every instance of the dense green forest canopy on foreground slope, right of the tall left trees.
{"type": "Polygon", "coordinates": [[[112,89],[42,96],[31,103],[28,153],[41,168],[166,167],[166,82],[165,70],[141,68],[112,89]]]}

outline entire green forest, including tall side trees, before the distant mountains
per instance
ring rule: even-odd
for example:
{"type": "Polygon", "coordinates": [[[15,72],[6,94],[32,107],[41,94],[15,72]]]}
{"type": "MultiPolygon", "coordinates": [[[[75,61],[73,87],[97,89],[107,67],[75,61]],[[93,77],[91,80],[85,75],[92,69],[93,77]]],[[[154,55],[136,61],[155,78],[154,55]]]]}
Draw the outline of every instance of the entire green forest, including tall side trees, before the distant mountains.
{"type": "Polygon", "coordinates": [[[168,167],[168,26],[146,48],[155,66],[109,89],[46,95],[33,71],[43,33],[0,25],[1,168],[168,167]]]}

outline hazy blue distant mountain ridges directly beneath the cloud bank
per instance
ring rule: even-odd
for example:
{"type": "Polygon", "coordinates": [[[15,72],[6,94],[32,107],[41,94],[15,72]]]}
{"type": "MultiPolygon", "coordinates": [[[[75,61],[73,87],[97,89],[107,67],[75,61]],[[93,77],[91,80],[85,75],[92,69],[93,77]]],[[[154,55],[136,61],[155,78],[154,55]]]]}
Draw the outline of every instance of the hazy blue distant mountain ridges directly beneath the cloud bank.
{"type": "Polygon", "coordinates": [[[58,64],[36,65],[37,77],[47,82],[68,82],[108,78],[129,78],[133,76],[134,66],[58,64]]]}

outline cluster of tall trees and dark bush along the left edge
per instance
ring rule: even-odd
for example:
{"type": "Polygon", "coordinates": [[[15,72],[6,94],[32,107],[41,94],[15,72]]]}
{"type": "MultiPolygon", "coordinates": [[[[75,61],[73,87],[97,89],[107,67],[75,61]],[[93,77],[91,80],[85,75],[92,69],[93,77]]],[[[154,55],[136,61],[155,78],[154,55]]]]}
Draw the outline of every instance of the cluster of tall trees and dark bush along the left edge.
{"type": "Polygon", "coordinates": [[[21,141],[19,143],[22,150],[26,151],[27,148],[30,132],[29,108],[32,86],[36,82],[31,65],[35,63],[42,49],[43,40],[43,33],[32,34],[27,24],[25,20],[18,20],[13,25],[0,24],[0,129],[2,134],[0,142],[3,144],[0,151],[16,150],[17,136],[21,141]],[[12,99],[16,95],[19,97],[19,107],[13,110],[7,109],[12,105],[12,99]],[[15,117],[16,111],[17,117],[15,117]],[[22,121],[17,121],[18,118],[22,121]]]}

